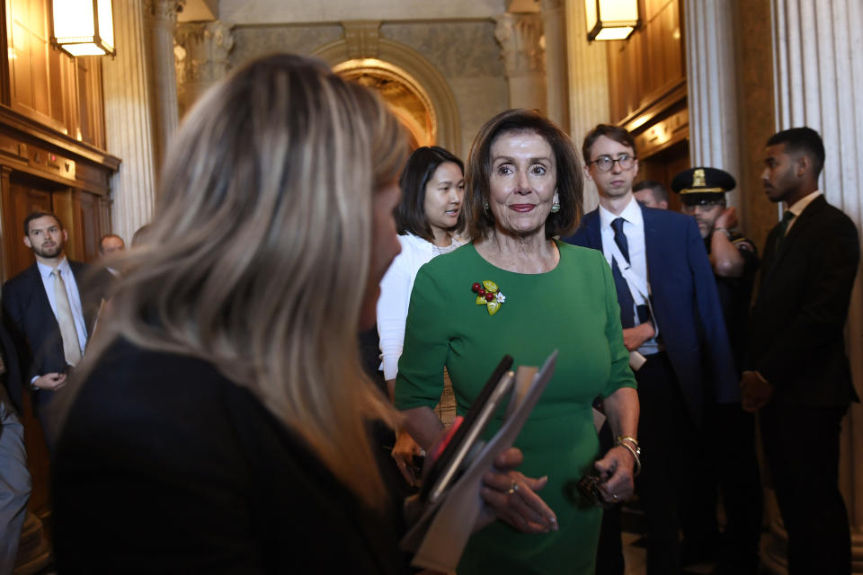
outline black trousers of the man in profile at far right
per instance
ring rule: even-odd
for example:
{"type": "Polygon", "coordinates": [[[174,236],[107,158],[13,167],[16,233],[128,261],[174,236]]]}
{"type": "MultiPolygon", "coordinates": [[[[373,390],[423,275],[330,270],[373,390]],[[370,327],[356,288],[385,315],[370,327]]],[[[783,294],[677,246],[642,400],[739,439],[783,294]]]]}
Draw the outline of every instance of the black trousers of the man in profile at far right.
{"type": "Polygon", "coordinates": [[[839,491],[839,437],[847,407],[771,402],[761,440],[788,533],[788,574],[851,570],[848,512],[839,491]]]}

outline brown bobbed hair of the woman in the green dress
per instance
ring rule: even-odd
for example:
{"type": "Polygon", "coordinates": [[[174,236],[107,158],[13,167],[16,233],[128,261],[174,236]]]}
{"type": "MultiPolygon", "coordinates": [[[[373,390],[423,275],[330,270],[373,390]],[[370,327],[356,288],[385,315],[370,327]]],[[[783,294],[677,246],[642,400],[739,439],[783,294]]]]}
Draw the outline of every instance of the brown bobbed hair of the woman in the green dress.
{"type": "Polygon", "coordinates": [[[536,111],[516,109],[502,111],[479,128],[470,156],[467,158],[465,207],[467,232],[471,239],[488,237],[494,229],[494,217],[484,208],[491,194],[492,144],[508,132],[535,133],[546,140],[555,155],[557,199],[560,210],[546,218],[546,237],[574,232],[582,219],[583,175],[572,139],[556,124],[536,111]]]}

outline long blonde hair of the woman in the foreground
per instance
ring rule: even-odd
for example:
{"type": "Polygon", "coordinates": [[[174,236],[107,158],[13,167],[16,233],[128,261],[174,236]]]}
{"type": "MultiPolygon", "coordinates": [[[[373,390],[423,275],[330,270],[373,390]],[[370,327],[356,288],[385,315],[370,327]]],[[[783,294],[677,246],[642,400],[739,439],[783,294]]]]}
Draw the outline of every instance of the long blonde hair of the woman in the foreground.
{"type": "Polygon", "coordinates": [[[369,420],[396,415],[363,375],[357,333],[373,194],[406,151],[378,97],[321,62],[237,70],[185,119],[87,365],[119,334],[205,359],[383,504],[369,420]]]}

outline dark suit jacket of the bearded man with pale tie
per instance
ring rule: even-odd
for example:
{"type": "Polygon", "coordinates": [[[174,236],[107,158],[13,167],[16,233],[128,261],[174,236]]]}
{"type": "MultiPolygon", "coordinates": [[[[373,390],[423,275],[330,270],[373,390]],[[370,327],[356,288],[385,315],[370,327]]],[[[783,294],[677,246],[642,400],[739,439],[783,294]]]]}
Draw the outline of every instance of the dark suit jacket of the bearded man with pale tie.
{"type": "MultiPolygon", "coordinates": [[[[108,272],[79,261],[69,260],[69,266],[81,296],[89,338],[108,281],[104,274],[108,272]]],[[[24,385],[29,385],[34,376],[60,372],[66,367],[60,328],[35,263],[4,284],[3,315],[22,358],[24,385]]]]}

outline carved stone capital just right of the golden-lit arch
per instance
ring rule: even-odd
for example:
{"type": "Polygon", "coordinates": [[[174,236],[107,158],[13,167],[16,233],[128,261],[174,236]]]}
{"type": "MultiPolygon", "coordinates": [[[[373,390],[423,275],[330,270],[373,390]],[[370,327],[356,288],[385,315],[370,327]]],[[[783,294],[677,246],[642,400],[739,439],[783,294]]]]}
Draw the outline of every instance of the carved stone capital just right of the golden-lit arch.
{"type": "Polygon", "coordinates": [[[494,38],[501,45],[506,75],[542,74],[545,70],[545,42],[542,16],[504,13],[494,19],[494,38]]]}

